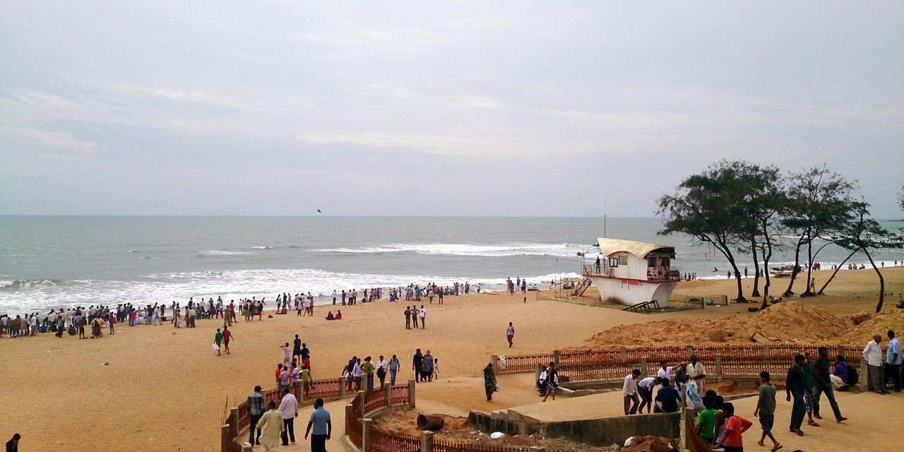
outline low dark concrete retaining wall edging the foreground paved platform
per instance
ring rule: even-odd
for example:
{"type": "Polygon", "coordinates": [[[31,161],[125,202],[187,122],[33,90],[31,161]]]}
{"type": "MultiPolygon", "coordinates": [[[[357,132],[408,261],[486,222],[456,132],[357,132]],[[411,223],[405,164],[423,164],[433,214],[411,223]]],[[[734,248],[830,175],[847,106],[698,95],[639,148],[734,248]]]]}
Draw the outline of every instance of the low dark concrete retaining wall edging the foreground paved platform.
{"type": "Polygon", "coordinates": [[[624,444],[627,438],[642,435],[664,438],[681,436],[681,415],[679,413],[534,423],[482,411],[471,411],[468,421],[472,427],[480,428],[485,432],[501,431],[506,435],[539,433],[550,438],[566,438],[593,446],[624,444]]]}

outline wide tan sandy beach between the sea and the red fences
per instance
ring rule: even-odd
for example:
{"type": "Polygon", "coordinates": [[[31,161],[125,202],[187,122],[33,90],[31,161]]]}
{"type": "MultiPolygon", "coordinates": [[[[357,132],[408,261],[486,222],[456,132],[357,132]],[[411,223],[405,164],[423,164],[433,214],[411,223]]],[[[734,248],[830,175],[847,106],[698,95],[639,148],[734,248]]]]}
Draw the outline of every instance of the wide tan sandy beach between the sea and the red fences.
{"type": "MultiPolygon", "coordinates": [[[[816,273],[817,284],[830,273],[816,273]]],[[[883,275],[886,292],[892,294],[886,297],[884,311],[899,311],[894,305],[904,291],[904,268],[884,268],[883,275]]],[[[804,281],[801,278],[798,291],[804,281]]],[[[746,279],[744,284],[752,282],[752,278],[746,279]]],[[[786,285],[786,280],[774,281],[773,292],[780,293],[786,285]]],[[[797,301],[839,316],[872,312],[878,287],[871,269],[842,271],[826,290],[828,295],[797,301]]],[[[675,292],[731,296],[733,288],[733,280],[698,280],[681,283],[675,292]]],[[[240,320],[231,328],[232,354],[221,356],[211,349],[220,325],[216,320],[199,320],[194,329],[120,324],[117,334],[93,340],[58,339],[52,334],[3,338],[0,351],[5,378],[0,385],[6,394],[6,415],[0,419],[0,432],[7,436],[20,432],[24,450],[216,450],[224,407],[235,406],[256,384],[274,385],[273,371],[282,357],[278,346],[290,342],[295,334],[311,350],[312,373],[318,380],[337,378],[352,355],[377,359],[380,354],[387,359],[399,355],[399,378],[407,380],[416,348],[430,350],[439,360],[440,377],[447,379],[478,375],[491,353],[582,346],[594,334],[618,325],[749,315],[747,308],[756,306],[645,315],[537,300],[533,293],[526,303],[521,295],[481,294],[447,297],[442,306],[437,302],[431,306],[426,299],[423,304],[428,306],[427,328],[411,331],[404,326],[405,303],[385,300],[339,306],[344,319],[338,322],[325,321],[332,306],[317,306],[315,317],[265,315],[261,322],[240,320]],[[513,322],[516,332],[511,350],[505,341],[508,322],[513,322]]],[[[899,329],[904,330],[904,325],[899,329]]],[[[637,334],[652,337],[656,331],[639,326],[637,334]]],[[[479,402],[479,382],[475,397],[453,397],[453,391],[448,400],[444,400],[442,384],[430,383],[429,391],[424,391],[424,397],[432,400],[429,403],[463,412],[488,408],[479,402]],[[471,404],[474,406],[465,406],[471,404]]],[[[342,416],[341,412],[333,414],[334,418],[342,416]]],[[[297,433],[303,436],[306,421],[297,424],[297,433]]],[[[297,447],[302,450],[307,445],[297,447]]],[[[338,435],[328,447],[341,449],[338,435]]]]}

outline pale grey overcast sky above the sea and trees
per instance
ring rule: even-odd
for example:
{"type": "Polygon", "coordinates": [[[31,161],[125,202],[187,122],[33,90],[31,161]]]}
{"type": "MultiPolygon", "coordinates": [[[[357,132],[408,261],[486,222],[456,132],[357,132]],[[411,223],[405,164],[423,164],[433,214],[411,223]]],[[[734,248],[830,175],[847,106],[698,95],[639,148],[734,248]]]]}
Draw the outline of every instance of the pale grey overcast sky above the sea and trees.
{"type": "Polygon", "coordinates": [[[901,2],[0,0],[0,214],[654,216],[904,185],[901,2]]]}

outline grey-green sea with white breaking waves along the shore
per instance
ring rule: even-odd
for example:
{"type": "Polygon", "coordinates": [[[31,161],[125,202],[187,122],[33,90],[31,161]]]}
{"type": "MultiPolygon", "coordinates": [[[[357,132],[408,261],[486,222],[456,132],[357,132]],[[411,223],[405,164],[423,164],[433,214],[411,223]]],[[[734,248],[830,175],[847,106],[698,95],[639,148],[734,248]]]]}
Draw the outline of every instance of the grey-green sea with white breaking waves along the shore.
{"type": "MultiPolygon", "coordinates": [[[[578,277],[578,253],[604,233],[672,245],[682,274],[727,278],[718,252],[657,235],[662,227],[659,218],[0,216],[0,314],[189,297],[272,301],[282,292],[325,304],[334,290],[429,282],[499,290],[505,278],[544,288],[578,277]]],[[[829,245],[815,261],[830,268],[846,255],[829,245]]],[[[874,259],[890,267],[904,251],[874,259]]],[[[793,260],[777,252],[770,267],[793,260]]],[[[739,266],[752,277],[749,256],[739,266]]]]}

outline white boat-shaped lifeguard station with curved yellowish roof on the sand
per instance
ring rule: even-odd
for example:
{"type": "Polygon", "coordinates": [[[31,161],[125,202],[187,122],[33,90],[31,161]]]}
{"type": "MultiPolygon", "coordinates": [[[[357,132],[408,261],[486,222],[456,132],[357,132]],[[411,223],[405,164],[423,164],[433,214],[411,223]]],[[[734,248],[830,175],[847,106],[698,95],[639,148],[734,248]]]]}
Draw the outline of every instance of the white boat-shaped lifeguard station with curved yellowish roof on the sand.
{"type": "Polygon", "coordinates": [[[599,239],[598,248],[597,259],[592,252],[584,254],[583,273],[597,286],[600,301],[625,306],[656,301],[660,307],[669,306],[681,280],[678,270],[672,269],[673,246],[599,239]]]}

